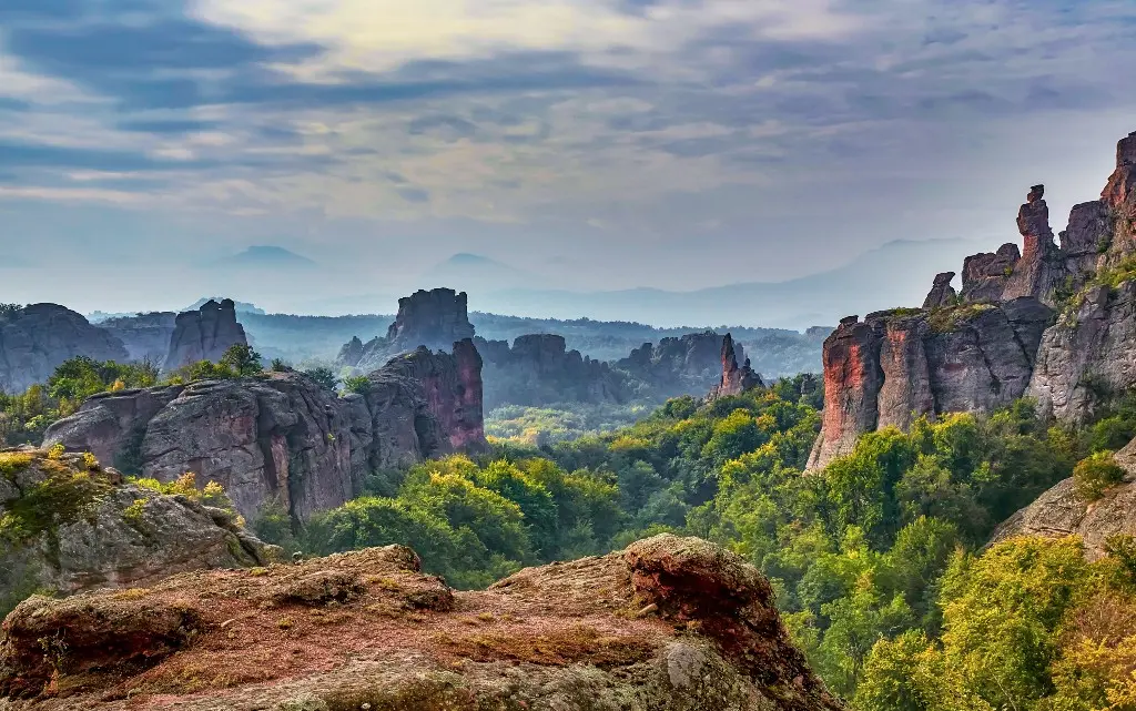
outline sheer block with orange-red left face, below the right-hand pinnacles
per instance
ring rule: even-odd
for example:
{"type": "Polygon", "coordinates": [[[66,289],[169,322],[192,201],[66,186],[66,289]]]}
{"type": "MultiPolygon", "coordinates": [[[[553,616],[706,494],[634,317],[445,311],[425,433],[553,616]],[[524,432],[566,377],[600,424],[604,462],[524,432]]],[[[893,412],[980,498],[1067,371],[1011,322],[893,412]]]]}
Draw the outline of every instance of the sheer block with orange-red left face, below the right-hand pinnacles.
{"type": "Polygon", "coordinates": [[[844,319],[825,342],[824,424],[809,467],[849,453],[877,428],[988,412],[1021,398],[1051,319],[1028,298],[844,319]]]}

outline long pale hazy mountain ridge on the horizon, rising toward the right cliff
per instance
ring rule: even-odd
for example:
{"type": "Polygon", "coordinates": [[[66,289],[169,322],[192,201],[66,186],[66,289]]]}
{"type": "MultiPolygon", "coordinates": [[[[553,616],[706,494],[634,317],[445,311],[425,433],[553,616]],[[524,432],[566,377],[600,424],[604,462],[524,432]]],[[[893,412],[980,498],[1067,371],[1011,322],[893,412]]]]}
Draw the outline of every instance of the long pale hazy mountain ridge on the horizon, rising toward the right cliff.
{"type": "Polygon", "coordinates": [[[655,326],[729,323],[804,329],[852,313],[918,307],[937,273],[961,271],[967,256],[996,248],[970,240],[900,240],[843,267],[786,282],[729,284],[691,292],[501,288],[470,293],[470,306],[515,316],[588,317],[655,326]]]}

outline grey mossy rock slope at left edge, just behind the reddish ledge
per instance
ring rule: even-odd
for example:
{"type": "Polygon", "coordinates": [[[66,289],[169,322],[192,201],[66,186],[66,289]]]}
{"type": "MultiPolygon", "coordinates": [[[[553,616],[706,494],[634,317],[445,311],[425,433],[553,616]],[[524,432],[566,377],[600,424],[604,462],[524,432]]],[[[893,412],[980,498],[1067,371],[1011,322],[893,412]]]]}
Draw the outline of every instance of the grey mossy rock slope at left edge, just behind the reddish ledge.
{"type": "Polygon", "coordinates": [[[82,454],[0,452],[0,610],[33,592],[149,585],[207,568],[265,566],[278,549],[236,515],[127,483],[82,454]]]}

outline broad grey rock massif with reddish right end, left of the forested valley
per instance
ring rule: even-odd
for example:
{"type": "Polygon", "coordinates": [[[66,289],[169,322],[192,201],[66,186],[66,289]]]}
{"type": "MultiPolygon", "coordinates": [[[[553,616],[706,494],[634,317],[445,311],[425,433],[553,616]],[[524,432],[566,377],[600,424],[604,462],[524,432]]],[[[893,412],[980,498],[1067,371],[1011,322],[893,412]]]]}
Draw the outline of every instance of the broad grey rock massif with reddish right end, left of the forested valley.
{"type": "Polygon", "coordinates": [[[56,423],[44,445],[162,482],[192,471],[245,517],[278,502],[301,519],[359,495],[370,471],[485,446],[471,342],[453,356],[420,349],[369,378],[346,398],[299,373],[107,393],[56,423]]]}

